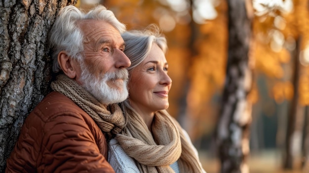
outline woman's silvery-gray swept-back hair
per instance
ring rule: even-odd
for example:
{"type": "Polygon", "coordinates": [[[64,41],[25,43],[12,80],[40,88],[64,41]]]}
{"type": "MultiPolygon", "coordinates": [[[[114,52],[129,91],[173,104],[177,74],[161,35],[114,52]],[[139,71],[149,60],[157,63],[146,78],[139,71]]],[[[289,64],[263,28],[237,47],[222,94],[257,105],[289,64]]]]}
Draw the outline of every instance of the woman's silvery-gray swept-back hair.
{"type": "Polygon", "coordinates": [[[167,42],[161,30],[155,25],[149,25],[145,30],[131,30],[121,34],[124,42],[124,54],[130,59],[130,72],[138,66],[149,55],[153,44],[157,44],[165,54],[167,51],[167,42]]]}

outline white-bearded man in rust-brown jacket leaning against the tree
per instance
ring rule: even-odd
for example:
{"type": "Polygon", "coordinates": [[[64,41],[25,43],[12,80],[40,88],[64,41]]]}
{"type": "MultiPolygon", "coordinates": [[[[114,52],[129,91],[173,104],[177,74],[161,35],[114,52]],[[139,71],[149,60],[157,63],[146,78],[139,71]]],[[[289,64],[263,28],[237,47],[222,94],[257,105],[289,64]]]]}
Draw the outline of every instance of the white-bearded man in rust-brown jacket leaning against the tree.
{"type": "Polygon", "coordinates": [[[107,139],[125,125],[116,104],[128,96],[124,31],[104,6],[86,14],[72,5],[59,12],[49,40],[54,91],[25,120],[7,173],[114,173],[107,139]]]}

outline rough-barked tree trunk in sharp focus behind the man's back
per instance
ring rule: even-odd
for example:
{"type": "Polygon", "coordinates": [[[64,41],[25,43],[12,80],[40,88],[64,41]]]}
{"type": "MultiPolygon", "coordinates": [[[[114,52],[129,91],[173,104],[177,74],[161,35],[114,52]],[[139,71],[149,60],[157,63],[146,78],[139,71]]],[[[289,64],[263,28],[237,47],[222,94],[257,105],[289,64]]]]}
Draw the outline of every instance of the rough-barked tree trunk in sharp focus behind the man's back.
{"type": "Polygon", "coordinates": [[[47,35],[59,9],[71,3],[0,1],[0,172],[28,113],[50,91],[47,35]]]}

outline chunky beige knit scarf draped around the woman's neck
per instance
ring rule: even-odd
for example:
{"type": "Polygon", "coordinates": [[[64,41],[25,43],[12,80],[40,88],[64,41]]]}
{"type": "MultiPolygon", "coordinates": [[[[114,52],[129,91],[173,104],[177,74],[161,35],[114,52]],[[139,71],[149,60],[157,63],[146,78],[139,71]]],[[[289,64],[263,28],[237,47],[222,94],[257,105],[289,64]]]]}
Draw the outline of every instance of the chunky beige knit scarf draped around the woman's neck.
{"type": "Polygon", "coordinates": [[[167,111],[155,113],[151,133],[141,118],[127,110],[126,128],[116,136],[141,173],[174,173],[169,166],[178,161],[180,173],[202,173],[199,159],[178,122],[167,111]]]}

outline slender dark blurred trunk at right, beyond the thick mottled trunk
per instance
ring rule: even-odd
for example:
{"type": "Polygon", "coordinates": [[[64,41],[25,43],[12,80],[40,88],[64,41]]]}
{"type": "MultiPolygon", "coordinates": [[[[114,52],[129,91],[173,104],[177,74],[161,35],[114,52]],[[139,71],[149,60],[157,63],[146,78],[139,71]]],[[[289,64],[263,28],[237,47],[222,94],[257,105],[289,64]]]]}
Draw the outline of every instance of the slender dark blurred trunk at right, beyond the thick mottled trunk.
{"type": "Polygon", "coordinates": [[[297,107],[299,105],[299,78],[300,78],[300,62],[299,62],[299,52],[300,52],[300,39],[296,42],[295,48],[295,55],[294,58],[294,72],[292,83],[294,86],[294,95],[291,101],[290,111],[288,114],[287,120],[287,131],[286,131],[286,138],[285,138],[285,153],[284,153],[284,169],[291,170],[293,169],[293,162],[294,162],[294,153],[293,153],[293,146],[294,146],[294,135],[295,135],[295,125],[296,125],[296,118],[297,118],[297,107]]]}

